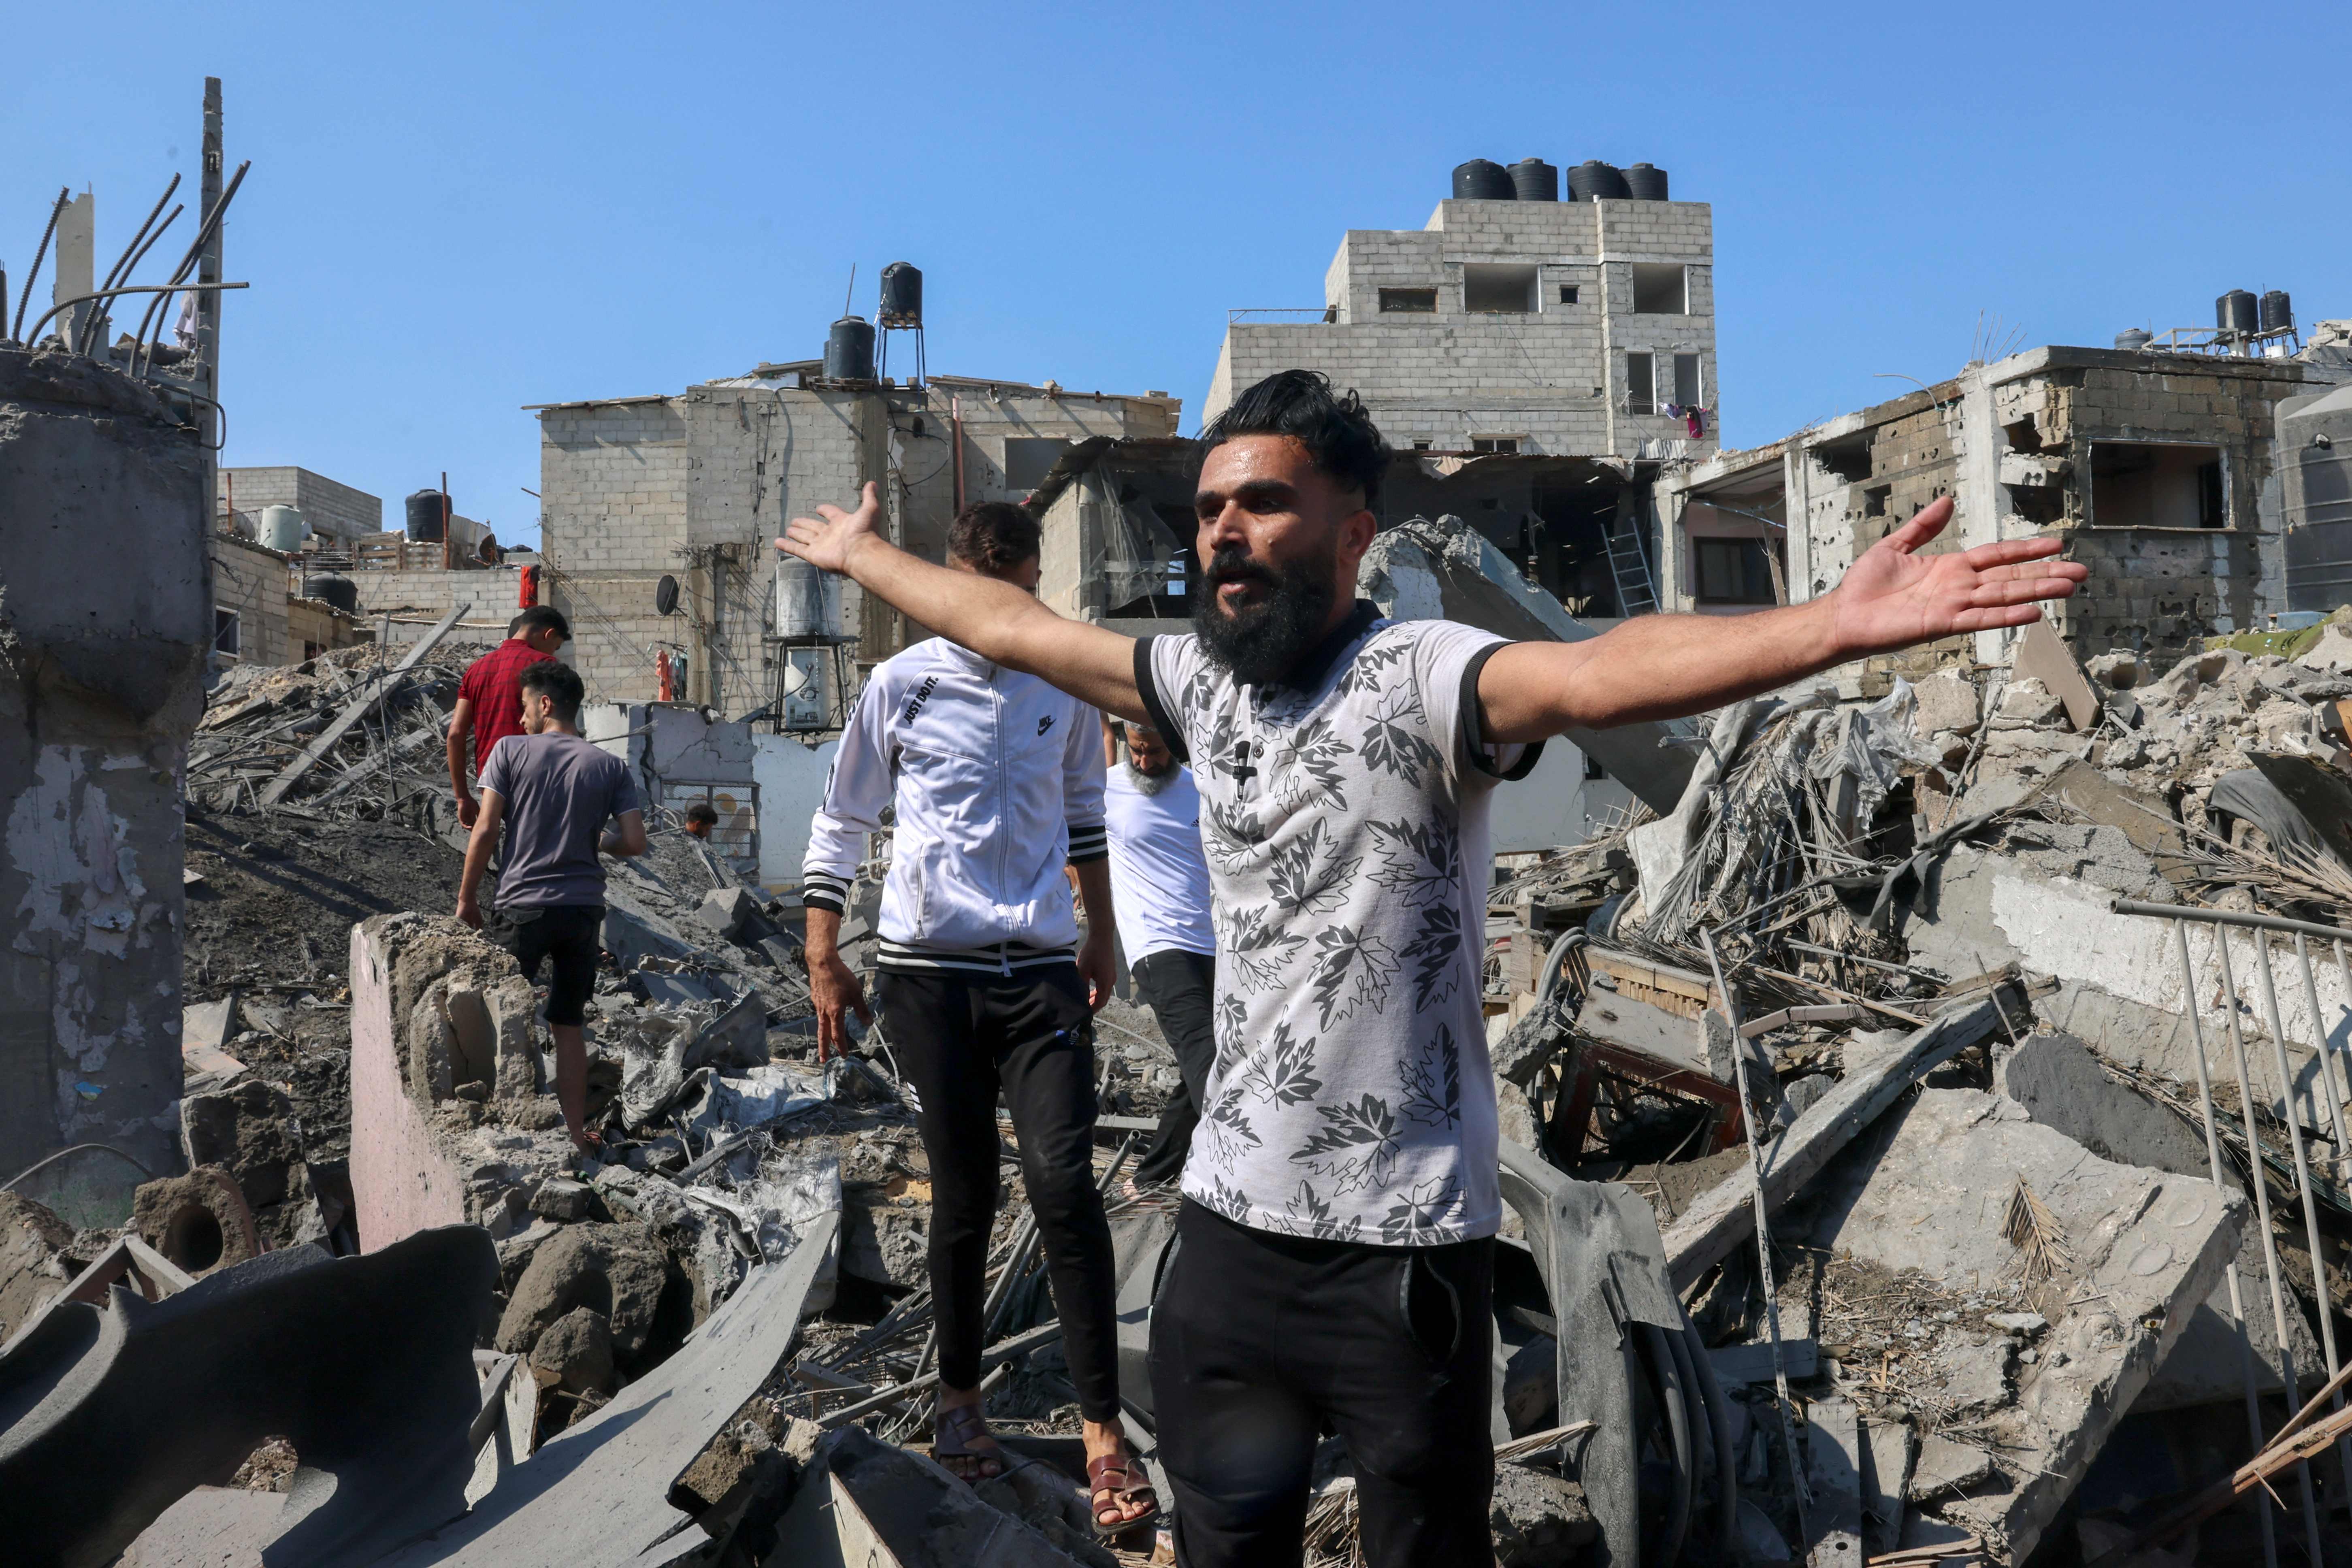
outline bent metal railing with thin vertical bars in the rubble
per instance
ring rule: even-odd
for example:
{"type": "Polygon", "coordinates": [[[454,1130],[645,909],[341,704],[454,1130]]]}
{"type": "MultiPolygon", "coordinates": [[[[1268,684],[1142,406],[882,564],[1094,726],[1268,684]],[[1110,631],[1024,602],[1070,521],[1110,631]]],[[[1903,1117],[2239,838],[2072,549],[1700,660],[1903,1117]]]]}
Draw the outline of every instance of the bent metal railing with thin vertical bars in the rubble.
{"type": "MultiPolygon", "coordinates": [[[[2173,950],[2180,959],[2180,987],[2183,987],[2183,1013],[2190,1020],[2190,1039],[2197,1046],[2197,1107],[2204,1117],[2206,1135],[2206,1161],[2213,1168],[2213,1185],[2227,1190],[2223,1178],[2223,1143],[2232,1145],[2232,1154],[2239,1157],[2246,1171],[2246,1185],[2253,1187],[2256,1222],[2263,1232],[2263,1272],[2270,1286],[2270,1316],[2279,1342],[2279,1385],[2286,1392],[2286,1408],[2296,1410],[2303,1403],[2303,1380],[2296,1371],[2293,1352],[2288,1349],[2286,1314],[2288,1314],[2288,1291],[2279,1274],[2279,1248],[2270,1229],[2270,1190],[2265,1171],[2277,1175],[2281,1182],[2293,1182],[2296,1197],[2303,1204],[2303,1234],[2312,1255],[2312,1279],[2319,1291],[2319,1349],[2328,1363],[2328,1387],[2338,1385],[2338,1352],[2336,1352],[2336,1307],[2328,1293],[2326,1279],[2326,1248],[2319,1239],[2319,1201],[2321,1194],[2328,1199],[2331,1208],[2345,1208],[2347,1190],[2345,1161],[2352,1157],[2352,1140],[2345,1135],[2345,1100],[2352,1098],[2352,1063],[2345,1060],[2345,1046],[2336,1039],[2340,1030],[2328,1030],[2326,1011],[2319,1006],[2319,976],[2312,969],[2312,943],[2321,940],[2333,947],[2336,969],[2343,976],[2345,997],[2338,1001],[2338,1011],[2352,1018],[2352,959],[2347,959],[2345,943],[2352,943],[2352,931],[2338,931],[2333,926],[2314,926],[2300,919],[2286,919],[2279,914],[2249,914],[2237,910],[2197,910],[2185,905],[2164,903],[2138,903],[2131,898],[2114,900],[2117,914],[2143,914],[2147,919],[2166,919],[2173,926],[2173,950]],[[2211,971],[2220,983],[2220,1011],[2223,1011],[2223,1037],[2230,1041],[2230,1067],[2237,1074],[2237,1100],[2239,1100],[2239,1128],[2227,1128],[2223,1117],[2213,1110],[2213,1072],[2206,1058],[2206,1020],[2199,1011],[2201,987],[2199,987],[2199,964],[2190,954],[2190,924],[2209,926],[2211,938],[2211,971]],[[2274,1056],[2274,1070],[2279,1074],[2279,1100],[2277,1119],[2286,1131],[2288,1161],[2279,1161],[2272,1147],[2263,1143],[2263,1128],[2256,1117],[2258,1091],[2253,1086],[2253,1074],[2246,1063],[2246,1030],[2239,1023],[2237,985],[2237,961],[2230,952],[2230,931],[2251,931],[2253,940],[2253,971],[2258,976],[2258,990],[2263,997],[2263,1023],[2270,1032],[2270,1048],[2274,1056]],[[2319,1074],[2317,1100],[2326,1107],[2326,1135],[2333,1143],[2336,1154],[2328,1159],[2328,1175],[2319,1178],[2312,1171],[2312,1154],[2303,1143],[2303,1121],[2310,1105],[2300,1105],[2303,1093],[2298,1093],[2298,1074],[2286,1051],[2286,1025],[2279,1011],[2279,980],[2277,980],[2277,936],[2296,938],[2296,971],[2303,980],[2303,1001],[2310,1009],[2305,1025],[2314,1037],[2312,1067],[2319,1074]],[[2244,1140],[2244,1147],[2239,1147],[2244,1140]]],[[[2305,1091],[2307,1093],[2307,1091],[2305,1091]]],[[[2260,1095],[2267,1105],[2267,1095],[2260,1095]]],[[[2314,1126],[2314,1131],[2319,1131],[2314,1126]]],[[[2256,1453],[2265,1448],[2270,1439],[2263,1432],[2263,1410],[2256,1396],[2258,1373],[2253,1363],[2253,1340],[2246,1335],[2246,1312],[2244,1293],[2239,1288],[2237,1262],[2232,1260],[2225,1269],[2230,1286],[2230,1328],[2237,1333],[2239,1342],[2239,1366],[2246,1385],[2246,1427],[2253,1439],[2256,1453]]],[[[2333,1408],[2343,1410],[2343,1394],[2333,1392],[2333,1408]]],[[[2336,1441],[2336,1460],[2343,1467],[2345,1493],[2352,1495],[2352,1439],[2336,1441]]],[[[2319,1507],[2312,1493],[2310,1462],[2303,1469],[2303,1528],[2310,1542],[2312,1561],[2319,1561],[2319,1507]]],[[[2263,1561],[2277,1563],[2277,1540],[2270,1509],[2260,1509],[2263,1519],[2263,1561]]]]}

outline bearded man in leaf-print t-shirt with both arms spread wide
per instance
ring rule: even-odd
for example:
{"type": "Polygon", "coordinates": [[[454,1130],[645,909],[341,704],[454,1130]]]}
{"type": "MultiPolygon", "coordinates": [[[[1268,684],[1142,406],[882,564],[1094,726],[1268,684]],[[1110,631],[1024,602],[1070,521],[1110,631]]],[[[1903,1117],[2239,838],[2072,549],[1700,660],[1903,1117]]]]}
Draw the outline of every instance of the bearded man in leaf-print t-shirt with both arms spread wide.
{"type": "Polygon", "coordinates": [[[1188,637],[1131,642],[920,562],[875,534],[873,487],[776,543],[1192,759],[1221,1018],[1150,1324],[1176,1559],[1296,1563],[1336,1429],[1369,1563],[1494,1563],[1489,790],[1548,736],[2025,625],[2089,571],[2049,562],[2056,538],[1922,555],[1952,517],[1936,501],[1804,604],[1501,642],[1357,604],[1388,447],[1352,393],[1268,376],[1202,444],[1188,637]]]}

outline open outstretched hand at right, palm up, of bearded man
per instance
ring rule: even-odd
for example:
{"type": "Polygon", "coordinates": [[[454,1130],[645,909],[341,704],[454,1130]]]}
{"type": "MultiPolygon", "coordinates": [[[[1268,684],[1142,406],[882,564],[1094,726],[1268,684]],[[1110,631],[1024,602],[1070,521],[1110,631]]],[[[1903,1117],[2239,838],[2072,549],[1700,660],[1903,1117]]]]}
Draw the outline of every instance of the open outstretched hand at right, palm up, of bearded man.
{"type": "Polygon", "coordinates": [[[1846,569],[1832,595],[1832,635],[1842,658],[2025,625],[2042,618],[2039,599],[2065,599],[2091,576],[2079,562],[2049,559],[2065,548],[2056,538],[2004,538],[1952,555],[1917,555],[1947,522],[1952,498],[1931,501],[1846,569]]]}

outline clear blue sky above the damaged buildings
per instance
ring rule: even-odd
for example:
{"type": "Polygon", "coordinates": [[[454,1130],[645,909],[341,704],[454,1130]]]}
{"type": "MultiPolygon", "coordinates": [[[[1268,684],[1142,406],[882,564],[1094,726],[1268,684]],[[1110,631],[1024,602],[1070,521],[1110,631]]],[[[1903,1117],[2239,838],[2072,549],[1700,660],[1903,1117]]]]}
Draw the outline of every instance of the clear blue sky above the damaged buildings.
{"type": "MultiPolygon", "coordinates": [[[[927,277],[934,371],[1176,393],[1228,306],[1465,158],[1649,160],[1715,205],[1722,418],[1773,440],[2023,343],[2352,317],[2352,7],[26,5],[0,263],[59,186],[99,270],[226,78],[226,461],[536,534],[520,404],[821,353],[927,277]]],[[[181,223],[193,223],[193,214],[181,223]]],[[[160,249],[158,249],[160,256],[160,249]]],[[[151,259],[151,273],[158,270],[151,259]]],[[[12,289],[19,287],[12,282],[12,289]]],[[[40,294],[47,294],[42,282],[40,294]]],[[[896,369],[896,364],[894,364],[896,369]]]]}

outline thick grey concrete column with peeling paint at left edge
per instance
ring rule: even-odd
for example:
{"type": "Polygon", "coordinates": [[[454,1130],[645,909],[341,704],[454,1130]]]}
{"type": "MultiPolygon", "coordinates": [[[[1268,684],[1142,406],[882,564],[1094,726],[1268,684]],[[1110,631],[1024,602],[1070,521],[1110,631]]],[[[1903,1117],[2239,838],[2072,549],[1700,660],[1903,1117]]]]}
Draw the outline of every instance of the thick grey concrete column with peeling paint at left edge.
{"type": "Polygon", "coordinates": [[[143,386],[0,350],[0,1166],[176,1171],[181,769],[205,451],[143,386]]]}

